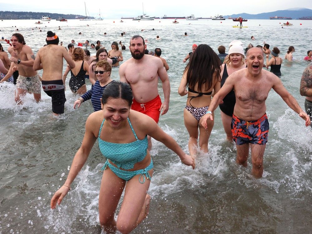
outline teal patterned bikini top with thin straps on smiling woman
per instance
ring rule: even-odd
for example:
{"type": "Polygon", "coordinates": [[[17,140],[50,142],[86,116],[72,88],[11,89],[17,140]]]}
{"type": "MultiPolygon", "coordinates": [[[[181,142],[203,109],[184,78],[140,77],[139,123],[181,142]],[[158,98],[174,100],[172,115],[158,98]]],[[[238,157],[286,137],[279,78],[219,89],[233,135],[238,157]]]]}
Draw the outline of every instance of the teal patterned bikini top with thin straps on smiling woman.
{"type": "Polygon", "coordinates": [[[132,169],[134,164],[141,162],[147,154],[147,135],[143,140],[139,140],[128,118],[129,125],[136,141],[130,143],[112,143],[104,141],[100,138],[104,120],[105,119],[103,119],[101,124],[98,138],[101,153],[105,158],[110,159],[118,168],[126,170],[132,169]]]}

